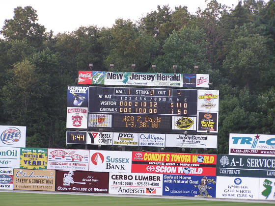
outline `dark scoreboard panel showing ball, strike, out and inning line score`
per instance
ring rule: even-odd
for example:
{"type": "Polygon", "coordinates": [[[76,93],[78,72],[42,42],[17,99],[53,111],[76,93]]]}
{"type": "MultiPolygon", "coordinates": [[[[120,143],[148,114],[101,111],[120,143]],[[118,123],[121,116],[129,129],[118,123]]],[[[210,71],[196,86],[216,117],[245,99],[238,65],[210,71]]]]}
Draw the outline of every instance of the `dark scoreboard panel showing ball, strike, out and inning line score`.
{"type": "MultiPolygon", "coordinates": [[[[89,87],[88,112],[146,115],[197,115],[197,90],[89,87]]],[[[131,117],[131,115],[130,115],[131,117]]]]}

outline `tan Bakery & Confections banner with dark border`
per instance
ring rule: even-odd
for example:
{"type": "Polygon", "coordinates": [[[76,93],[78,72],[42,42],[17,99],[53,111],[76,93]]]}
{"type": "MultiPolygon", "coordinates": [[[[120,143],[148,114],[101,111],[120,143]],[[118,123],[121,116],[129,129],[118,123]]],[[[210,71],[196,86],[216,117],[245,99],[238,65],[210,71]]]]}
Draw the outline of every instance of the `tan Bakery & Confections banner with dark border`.
{"type": "Polygon", "coordinates": [[[13,189],[55,191],[55,170],[13,170],[13,189]]]}

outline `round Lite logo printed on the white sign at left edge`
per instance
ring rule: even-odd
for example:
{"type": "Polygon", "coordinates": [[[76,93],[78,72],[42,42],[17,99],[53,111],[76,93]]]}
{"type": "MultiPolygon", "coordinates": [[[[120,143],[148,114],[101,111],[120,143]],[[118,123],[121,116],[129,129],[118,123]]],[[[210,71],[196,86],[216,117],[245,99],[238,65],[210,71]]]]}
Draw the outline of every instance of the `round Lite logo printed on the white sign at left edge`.
{"type": "Polygon", "coordinates": [[[0,138],[1,138],[2,143],[6,144],[6,145],[13,145],[16,142],[18,142],[19,139],[21,138],[21,131],[17,128],[10,127],[8,129],[5,129],[1,133],[0,138]]]}

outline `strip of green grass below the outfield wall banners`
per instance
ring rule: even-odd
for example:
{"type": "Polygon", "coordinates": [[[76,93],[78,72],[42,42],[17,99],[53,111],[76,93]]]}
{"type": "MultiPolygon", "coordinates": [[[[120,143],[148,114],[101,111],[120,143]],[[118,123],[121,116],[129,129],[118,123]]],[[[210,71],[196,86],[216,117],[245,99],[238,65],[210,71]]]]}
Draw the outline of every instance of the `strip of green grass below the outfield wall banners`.
{"type": "Polygon", "coordinates": [[[275,206],[275,203],[0,192],[0,206],[275,206]]]}

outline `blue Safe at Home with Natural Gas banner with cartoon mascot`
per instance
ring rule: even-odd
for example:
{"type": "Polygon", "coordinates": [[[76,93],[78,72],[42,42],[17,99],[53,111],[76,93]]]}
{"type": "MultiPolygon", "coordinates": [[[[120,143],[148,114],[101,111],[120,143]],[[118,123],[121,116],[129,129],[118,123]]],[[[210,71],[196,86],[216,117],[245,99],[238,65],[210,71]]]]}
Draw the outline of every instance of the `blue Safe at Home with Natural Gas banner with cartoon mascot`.
{"type": "Polygon", "coordinates": [[[215,176],[164,175],[163,195],[216,197],[215,176]]]}

